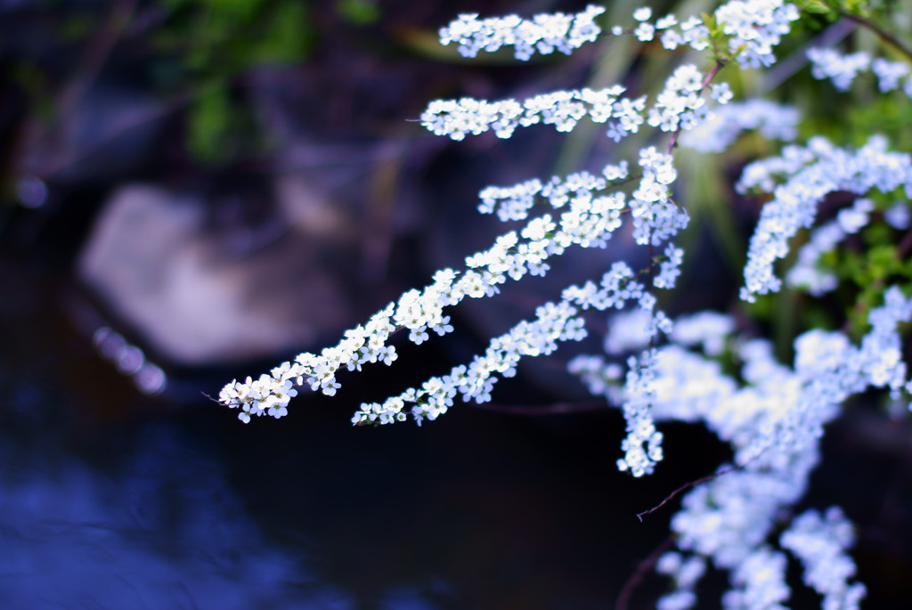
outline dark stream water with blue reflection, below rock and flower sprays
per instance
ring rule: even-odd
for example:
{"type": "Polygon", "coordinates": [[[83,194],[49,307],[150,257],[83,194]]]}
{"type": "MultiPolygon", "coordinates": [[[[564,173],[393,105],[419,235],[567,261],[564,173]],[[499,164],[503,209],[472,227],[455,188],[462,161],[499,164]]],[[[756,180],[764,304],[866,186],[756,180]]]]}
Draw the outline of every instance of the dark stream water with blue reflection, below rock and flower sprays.
{"type": "Polygon", "coordinates": [[[617,412],[354,429],[403,383],[380,371],[244,426],[199,394],[227,371],[141,396],[74,324],[78,290],[26,266],[0,305],[0,607],[609,607],[667,535],[634,514],[688,475],[617,473],[617,412]]]}

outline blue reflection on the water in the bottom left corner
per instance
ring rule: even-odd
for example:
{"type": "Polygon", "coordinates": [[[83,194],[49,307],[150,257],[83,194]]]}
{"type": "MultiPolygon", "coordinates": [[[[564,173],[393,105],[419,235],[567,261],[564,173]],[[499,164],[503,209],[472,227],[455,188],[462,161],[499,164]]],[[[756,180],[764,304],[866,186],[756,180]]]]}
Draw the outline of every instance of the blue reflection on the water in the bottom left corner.
{"type": "Polygon", "coordinates": [[[169,426],[108,474],[32,456],[2,488],[0,607],[353,607],[264,543],[219,464],[169,426]]]}

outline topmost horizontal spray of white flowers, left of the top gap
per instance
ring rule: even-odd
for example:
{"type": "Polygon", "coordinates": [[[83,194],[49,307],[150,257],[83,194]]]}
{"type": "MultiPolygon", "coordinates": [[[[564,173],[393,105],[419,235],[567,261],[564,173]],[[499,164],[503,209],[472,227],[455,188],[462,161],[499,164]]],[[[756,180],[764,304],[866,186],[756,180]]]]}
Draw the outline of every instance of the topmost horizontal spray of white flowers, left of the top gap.
{"type": "Polygon", "coordinates": [[[475,57],[479,51],[493,53],[501,47],[515,47],[516,58],[522,60],[529,59],[536,51],[548,55],[557,50],[570,55],[601,34],[595,19],[604,12],[602,6],[589,5],[575,15],[554,13],[532,19],[515,15],[485,19],[479,19],[477,14],[461,15],[449,26],[440,28],[440,43],[455,42],[462,57],[475,57]]]}

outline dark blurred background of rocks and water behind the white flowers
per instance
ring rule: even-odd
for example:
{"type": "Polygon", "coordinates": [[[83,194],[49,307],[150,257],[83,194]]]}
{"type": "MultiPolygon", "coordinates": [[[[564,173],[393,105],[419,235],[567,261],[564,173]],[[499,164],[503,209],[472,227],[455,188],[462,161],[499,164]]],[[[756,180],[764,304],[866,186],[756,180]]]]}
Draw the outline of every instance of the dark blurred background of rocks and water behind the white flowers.
{"type": "MultiPolygon", "coordinates": [[[[673,425],[654,476],[617,472],[623,420],[565,376],[573,350],[499,384],[485,408],[422,428],[349,423],[565,285],[636,263],[623,235],[461,305],[454,335],[397,344],[394,367],[340,376],[335,398],[302,392],[285,419],[244,426],[208,398],[335,345],[486,247],[503,227],[475,212],[484,186],[623,158],[592,125],[454,144],[416,120],[433,98],[660,85],[667,54],[622,39],[526,64],[437,43],[460,13],[585,5],[0,0],[0,607],[654,604],[666,584],[637,567],[668,542],[677,503],[635,515],[728,456],[673,425]]],[[[613,3],[606,22],[634,5],[613,3]]],[[[672,312],[733,301],[732,253],[756,206],[731,181],[749,156],[694,170],[693,215],[712,222],[685,243],[672,312]]],[[[859,522],[869,607],[912,594],[907,435],[860,409],[830,431],[807,499],[859,522]]],[[[724,582],[710,576],[705,607],[724,582]]],[[[795,607],[814,605],[798,589],[795,607]]]]}

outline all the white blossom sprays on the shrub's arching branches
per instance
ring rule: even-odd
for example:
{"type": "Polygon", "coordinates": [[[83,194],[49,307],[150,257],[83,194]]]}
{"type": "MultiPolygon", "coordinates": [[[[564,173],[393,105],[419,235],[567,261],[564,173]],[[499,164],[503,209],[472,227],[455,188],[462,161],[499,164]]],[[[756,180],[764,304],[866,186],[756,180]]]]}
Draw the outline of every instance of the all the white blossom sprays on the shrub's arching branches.
{"type": "MultiPolygon", "coordinates": [[[[589,6],[575,15],[532,19],[463,15],[441,29],[440,37],[443,44],[457,44],[466,57],[504,46],[514,47],[520,59],[536,52],[570,53],[600,35],[595,19],[604,11],[589,6]]],[[[857,343],[843,332],[803,333],[794,341],[792,365],[786,366],[773,357],[771,342],[735,336],[730,316],[702,312],[672,323],[650,292],[674,287],[682,264],[683,251],[672,240],[689,216],[673,200],[675,145],[720,152],[745,129],[758,129],[770,140],[795,138],[795,109],[763,100],[733,102],[728,84],[710,81],[732,60],[741,68],[771,65],[773,48],[797,18],[797,8],[782,0],[732,0],[712,17],[680,22],[672,15],[653,20],[650,8],[637,8],[635,28],[615,26],[613,35],[632,34],[643,42],[658,39],[668,49],[711,47],[715,63],[706,74],[692,64],[675,67],[654,99],[624,97],[626,89],[614,85],[555,91],[523,101],[431,102],[421,115],[422,125],[452,140],[489,130],[510,138],[515,129],[536,123],[570,131],[586,116],[605,124],[607,138],[616,142],[646,128],[673,135],[664,151],[661,145],[645,146],[637,160],[615,161],[601,173],[580,171],[483,189],[480,212],[522,226],[497,237],[487,250],[467,256],[461,270],[443,269],[428,286],[401,295],[367,324],[347,331],[337,346],[319,355],[302,354],[258,379],[235,380],[223,388],[220,401],[238,408],[239,418],[247,422],[252,416],[285,416],[297,386],[334,395],[337,371],[343,367],[359,370],[368,363],[389,365],[397,358],[390,345],[394,333],[403,331],[415,344],[431,333],[450,333],[447,307],[465,298],[495,295],[508,279],[544,275],[551,257],[572,246],[604,248],[628,222],[634,243],[648,246],[647,271],[637,274],[627,263],[616,262],[600,278],[566,287],[560,299],[537,307],[534,317],[493,337],[468,364],[383,402],[363,404],[352,422],[380,425],[411,418],[420,424],[439,418],[458,397],[488,401],[499,379],[516,375],[523,357],[547,356],[562,342],[586,337],[584,312],[615,310],[605,339],[606,356],[575,357],[568,369],[591,392],[623,411],[627,436],[617,467],[635,477],[652,472],[664,453],[657,424],[667,420],[701,423],[733,453],[731,464],[720,466],[710,481],[683,497],[672,519],[676,548],[659,558],[657,569],[668,574],[674,590],[658,607],[684,610],[696,605],[697,586],[711,564],[729,574],[725,608],[784,608],[791,595],[786,580],[791,554],[803,565],[804,582],[824,596],[824,607],[854,610],[865,587],[851,582],[851,526],[837,509],[823,517],[805,512],[791,524],[789,512],[803,497],[820,459],[824,426],[848,398],[871,388],[888,389],[896,401],[912,395],[899,334],[900,326],[912,321],[912,297],[888,287],[884,304],[870,311],[870,328],[857,343]],[[704,98],[707,93],[711,101],[704,98]],[[661,254],[653,257],[656,248],[661,254]],[[723,358],[728,367],[723,367],[723,358]],[[775,532],[782,530],[777,540],[775,532]]],[[[831,78],[837,88],[845,90],[857,75],[872,71],[881,91],[903,88],[912,97],[912,74],[905,65],[863,53],[840,56],[831,49],[813,49],[808,57],[814,77],[831,78]]],[[[797,264],[785,275],[789,284],[821,295],[835,285],[834,275],[819,269],[821,257],[871,221],[874,203],[866,199],[869,192],[902,190],[905,199],[912,198],[912,157],[888,150],[886,139],[879,136],[858,150],[814,138],[751,163],[737,189],[772,195],[751,237],[741,289],[746,301],[780,288],[774,264],[786,256],[789,241],[801,229],[814,227],[817,206],[827,194],[855,194],[851,207],[811,232],[797,264]]],[[[906,228],[912,214],[902,195],[896,193],[900,201],[885,212],[885,219],[906,228]]]]}

